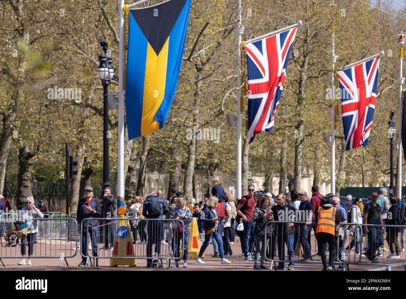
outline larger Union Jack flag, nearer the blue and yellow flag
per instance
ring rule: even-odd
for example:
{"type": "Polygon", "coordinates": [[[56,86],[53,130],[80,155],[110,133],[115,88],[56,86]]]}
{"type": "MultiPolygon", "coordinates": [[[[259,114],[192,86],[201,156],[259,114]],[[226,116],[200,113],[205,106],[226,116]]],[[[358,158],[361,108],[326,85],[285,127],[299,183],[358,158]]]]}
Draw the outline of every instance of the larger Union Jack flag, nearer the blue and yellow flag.
{"type": "Polygon", "coordinates": [[[248,70],[248,139],[270,132],[285,82],[297,27],[245,45],[248,70]]]}

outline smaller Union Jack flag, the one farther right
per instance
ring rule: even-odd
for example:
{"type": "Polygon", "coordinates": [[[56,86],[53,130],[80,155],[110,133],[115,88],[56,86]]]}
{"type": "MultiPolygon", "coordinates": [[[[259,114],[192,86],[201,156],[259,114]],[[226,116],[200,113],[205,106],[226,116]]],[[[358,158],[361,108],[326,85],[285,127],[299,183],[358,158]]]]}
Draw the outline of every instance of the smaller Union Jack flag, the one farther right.
{"type": "Polygon", "coordinates": [[[375,111],[378,67],[379,56],[337,72],[345,150],[367,146],[375,111]]]}

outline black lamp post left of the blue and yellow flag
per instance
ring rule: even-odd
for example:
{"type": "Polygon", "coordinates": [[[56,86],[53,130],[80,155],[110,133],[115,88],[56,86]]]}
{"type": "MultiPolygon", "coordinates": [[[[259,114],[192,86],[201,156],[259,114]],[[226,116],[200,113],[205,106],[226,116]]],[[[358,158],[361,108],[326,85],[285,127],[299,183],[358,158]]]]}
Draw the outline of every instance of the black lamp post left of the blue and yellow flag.
{"type": "MultiPolygon", "coordinates": [[[[102,80],[103,85],[103,185],[102,189],[110,188],[110,166],[108,158],[108,85],[114,76],[114,69],[111,66],[113,59],[106,55],[108,45],[105,39],[100,41],[103,47],[104,54],[99,55],[99,67],[97,68],[97,76],[102,80]]],[[[110,52],[110,51],[109,51],[110,52]]]]}

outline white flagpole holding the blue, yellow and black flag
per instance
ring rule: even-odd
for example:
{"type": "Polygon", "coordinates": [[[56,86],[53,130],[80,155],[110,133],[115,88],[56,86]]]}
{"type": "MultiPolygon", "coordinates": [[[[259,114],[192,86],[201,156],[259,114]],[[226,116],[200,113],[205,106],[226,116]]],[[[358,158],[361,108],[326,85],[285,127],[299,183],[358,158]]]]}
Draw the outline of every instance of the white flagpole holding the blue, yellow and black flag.
{"type": "Polygon", "coordinates": [[[120,0],[120,43],[119,43],[119,129],[117,157],[117,207],[124,206],[124,0],[120,0]],[[121,202],[120,202],[121,201],[121,202]]]}

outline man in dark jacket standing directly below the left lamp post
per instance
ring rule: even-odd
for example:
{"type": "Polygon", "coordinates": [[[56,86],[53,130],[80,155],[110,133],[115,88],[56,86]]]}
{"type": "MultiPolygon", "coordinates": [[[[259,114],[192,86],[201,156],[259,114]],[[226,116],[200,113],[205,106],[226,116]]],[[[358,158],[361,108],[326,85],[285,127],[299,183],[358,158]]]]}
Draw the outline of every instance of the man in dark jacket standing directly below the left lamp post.
{"type": "MultiPolygon", "coordinates": [[[[104,188],[103,195],[100,197],[100,208],[102,210],[102,218],[114,218],[116,213],[116,199],[108,187],[104,188]]],[[[100,250],[113,250],[115,224],[110,220],[104,220],[103,223],[104,247],[100,248],[100,250]]]]}

